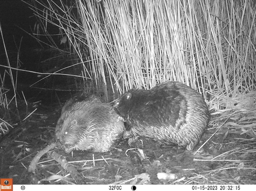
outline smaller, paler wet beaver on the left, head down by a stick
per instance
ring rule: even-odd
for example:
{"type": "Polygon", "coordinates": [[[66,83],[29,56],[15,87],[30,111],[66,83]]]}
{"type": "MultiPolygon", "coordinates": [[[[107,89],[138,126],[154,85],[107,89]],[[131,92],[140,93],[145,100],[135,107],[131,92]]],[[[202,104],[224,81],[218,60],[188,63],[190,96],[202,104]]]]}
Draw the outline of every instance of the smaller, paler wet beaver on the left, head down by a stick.
{"type": "Polygon", "coordinates": [[[76,150],[107,152],[123,135],[124,123],[111,105],[97,97],[73,97],[62,108],[55,139],[66,153],[76,150]]]}

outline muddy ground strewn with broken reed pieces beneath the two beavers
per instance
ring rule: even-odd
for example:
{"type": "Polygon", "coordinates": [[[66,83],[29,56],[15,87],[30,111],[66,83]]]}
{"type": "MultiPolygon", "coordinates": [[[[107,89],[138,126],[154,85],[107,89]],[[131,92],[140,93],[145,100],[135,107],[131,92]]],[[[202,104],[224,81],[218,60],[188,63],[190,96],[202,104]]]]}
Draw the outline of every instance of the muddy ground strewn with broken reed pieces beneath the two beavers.
{"type": "MultiPolygon", "coordinates": [[[[54,142],[54,129],[60,112],[61,104],[58,103],[44,105],[31,102],[27,107],[25,103],[19,103],[19,115],[24,117],[19,120],[21,122],[14,125],[14,129],[10,129],[9,133],[0,138],[0,177],[13,178],[14,184],[255,184],[256,182],[254,135],[250,131],[241,135],[241,131],[230,125],[239,123],[237,118],[226,120],[225,117],[219,116],[212,116],[202,141],[193,152],[177,146],[161,145],[141,137],[141,140],[131,147],[127,144],[127,140],[121,140],[116,148],[105,153],[74,151],[68,155],[54,148],[58,155],[72,162],[79,173],[79,180],[74,180],[69,172],[48,154],[41,157],[36,173],[27,172],[33,157],[54,142]],[[35,108],[37,108],[36,112],[21,121],[35,108]],[[208,140],[219,127],[219,131],[208,140]],[[203,147],[195,154],[202,144],[203,147]],[[162,173],[158,174],[160,179],[157,173],[162,173]],[[161,179],[161,176],[166,180],[161,179]]],[[[246,116],[246,113],[242,115],[246,116]]],[[[247,122],[253,123],[250,118],[247,122]]],[[[251,132],[253,131],[255,132],[255,128],[251,129],[251,132]]]]}

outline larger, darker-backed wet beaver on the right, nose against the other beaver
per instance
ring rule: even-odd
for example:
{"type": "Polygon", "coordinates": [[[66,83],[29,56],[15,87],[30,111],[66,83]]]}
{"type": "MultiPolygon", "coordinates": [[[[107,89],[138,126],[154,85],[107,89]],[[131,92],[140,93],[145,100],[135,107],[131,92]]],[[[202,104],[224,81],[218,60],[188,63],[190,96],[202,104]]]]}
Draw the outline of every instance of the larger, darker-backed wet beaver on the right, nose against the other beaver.
{"type": "Polygon", "coordinates": [[[151,90],[130,90],[121,95],[114,109],[130,127],[124,138],[150,137],[188,151],[198,144],[210,117],[203,97],[180,82],[165,82],[151,90]]]}

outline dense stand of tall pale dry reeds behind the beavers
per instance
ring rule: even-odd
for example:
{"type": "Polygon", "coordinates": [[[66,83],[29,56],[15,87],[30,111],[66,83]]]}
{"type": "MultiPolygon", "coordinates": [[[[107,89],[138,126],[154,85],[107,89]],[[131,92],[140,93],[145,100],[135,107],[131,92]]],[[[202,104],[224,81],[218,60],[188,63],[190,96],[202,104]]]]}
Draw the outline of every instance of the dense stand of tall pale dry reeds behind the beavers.
{"type": "Polygon", "coordinates": [[[44,29],[59,27],[81,62],[88,48],[93,78],[113,90],[174,80],[219,109],[256,89],[252,0],[34,2],[44,29]]]}

